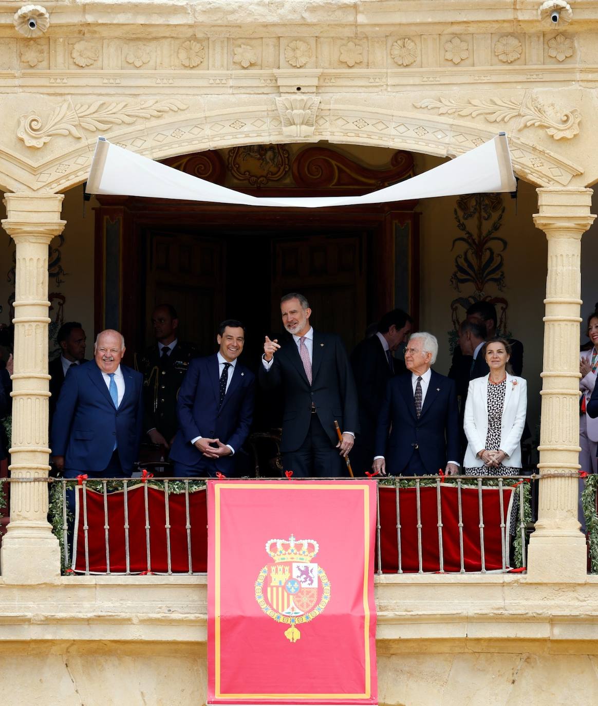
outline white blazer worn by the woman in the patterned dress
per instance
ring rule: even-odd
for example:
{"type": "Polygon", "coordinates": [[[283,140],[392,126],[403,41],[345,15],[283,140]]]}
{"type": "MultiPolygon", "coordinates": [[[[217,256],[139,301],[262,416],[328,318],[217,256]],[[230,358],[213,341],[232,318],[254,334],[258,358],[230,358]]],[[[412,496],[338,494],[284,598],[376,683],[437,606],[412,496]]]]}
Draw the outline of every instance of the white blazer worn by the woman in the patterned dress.
{"type": "MultiPolygon", "coordinates": [[[[465,436],[467,451],[463,465],[480,468],[484,461],[477,453],[486,448],[488,433],[488,376],[474,378],[470,382],[465,402],[465,436]]],[[[521,435],[527,412],[527,383],[523,378],[507,373],[505,402],[501,420],[501,443],[498,448],[507,455],[503,465],[521,468],[521,435]]]]}

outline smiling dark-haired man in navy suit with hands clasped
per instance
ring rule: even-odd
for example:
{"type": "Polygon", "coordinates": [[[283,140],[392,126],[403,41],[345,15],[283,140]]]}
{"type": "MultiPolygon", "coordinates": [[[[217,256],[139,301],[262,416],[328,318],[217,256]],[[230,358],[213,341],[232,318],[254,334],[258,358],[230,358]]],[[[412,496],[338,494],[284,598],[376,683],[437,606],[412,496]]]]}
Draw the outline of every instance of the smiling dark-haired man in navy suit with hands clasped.
{"type": "Polygon", "coordinates": [[[222,321],[216,340],[218,352],[191,360],[179,390],[179,431],[169,457],[176,477],[230,476],[234,455],[249,435],[256,376],[237,361],[244,325],[222,321]]]}

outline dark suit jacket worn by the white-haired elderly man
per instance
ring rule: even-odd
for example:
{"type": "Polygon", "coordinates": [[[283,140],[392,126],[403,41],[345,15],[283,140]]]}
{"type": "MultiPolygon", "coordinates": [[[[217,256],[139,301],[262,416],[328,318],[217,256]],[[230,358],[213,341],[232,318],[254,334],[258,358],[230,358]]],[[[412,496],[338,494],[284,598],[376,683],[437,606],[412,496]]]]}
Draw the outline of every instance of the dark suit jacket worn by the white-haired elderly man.
{"type": "Polygon", "coordinates": [[[460,459],[455,383],[435,371],[419,419],[415,416],[411,373],[393,378],[386,386],[378,417],[375,455],[384,456],[386,472],[395,474],[407,467],[416,444],[426,473],[436,474],[448,460],[460,459]]]}

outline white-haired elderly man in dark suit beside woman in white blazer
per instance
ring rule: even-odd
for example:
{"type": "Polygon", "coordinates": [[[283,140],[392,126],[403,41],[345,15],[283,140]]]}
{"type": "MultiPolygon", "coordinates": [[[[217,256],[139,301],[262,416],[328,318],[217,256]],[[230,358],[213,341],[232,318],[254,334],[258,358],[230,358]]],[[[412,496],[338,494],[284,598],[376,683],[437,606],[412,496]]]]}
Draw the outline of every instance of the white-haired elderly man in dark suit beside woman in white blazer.
{"type": "Polygon", "coordinates": [[[388,381],[373,460],[373,469],[383,475],[458,472],[457,392],[453,380],[431,369],[437,354],[436,337],[414,333],[405,349],[407,373],[388,381]]]}

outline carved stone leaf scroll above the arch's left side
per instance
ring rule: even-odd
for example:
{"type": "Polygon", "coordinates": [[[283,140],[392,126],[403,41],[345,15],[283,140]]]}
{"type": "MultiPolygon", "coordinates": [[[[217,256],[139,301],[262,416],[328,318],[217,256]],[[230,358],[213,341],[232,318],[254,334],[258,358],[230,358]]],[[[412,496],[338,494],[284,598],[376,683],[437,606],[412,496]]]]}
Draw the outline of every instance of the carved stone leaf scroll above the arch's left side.
{"type": "Polygon", "coordinates": [[[188,107],[179,100],[144,100],[138,103],[98,100],[90,104],[76,104],[74,109],[71,109],[70,103],[64,103],[45,120],[37,110],[20,116],[17,137],[28,147],[42,148],[56,135],[80,139],[83,138],[82,130],[109,130],[113,125],[130,125],[138,119],[157,118],[188,107]]]}

